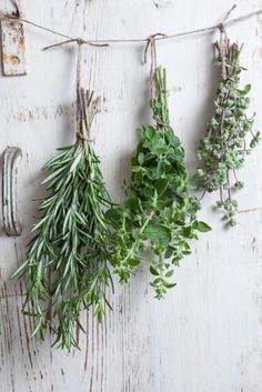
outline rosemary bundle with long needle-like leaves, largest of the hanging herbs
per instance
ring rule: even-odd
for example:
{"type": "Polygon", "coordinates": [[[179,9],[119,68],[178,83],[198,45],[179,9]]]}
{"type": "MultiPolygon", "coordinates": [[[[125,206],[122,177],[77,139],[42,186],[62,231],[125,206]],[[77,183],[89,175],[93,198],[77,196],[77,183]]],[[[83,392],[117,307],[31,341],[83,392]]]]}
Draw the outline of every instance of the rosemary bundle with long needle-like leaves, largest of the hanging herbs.
{"type": "Polygon", "coordinates": [[[93,308],[101,319],[111,284],[104,208],[111,205],[99,169],[90,129],[99,99],[78,90],[78,134],[74,145],[59,149],[44,167],[41,218],[33,227],[26,262],[13,274],[28,280],[24,314],[37,322],[32,335],[44,338],[47,328],[57,346],[78,346],[81,309],[93,308]]]}

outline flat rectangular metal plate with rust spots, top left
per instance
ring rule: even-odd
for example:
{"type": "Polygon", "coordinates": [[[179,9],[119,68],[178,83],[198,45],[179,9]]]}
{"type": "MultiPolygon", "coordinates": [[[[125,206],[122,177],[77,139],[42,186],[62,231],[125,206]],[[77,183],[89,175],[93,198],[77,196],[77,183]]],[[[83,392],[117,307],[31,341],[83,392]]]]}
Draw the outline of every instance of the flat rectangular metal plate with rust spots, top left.
{"type": "Polygon", "coordinates": [[[6,77],[27,74],[23,23],[18,18],[1,20],[2,72],[6,77]]]}

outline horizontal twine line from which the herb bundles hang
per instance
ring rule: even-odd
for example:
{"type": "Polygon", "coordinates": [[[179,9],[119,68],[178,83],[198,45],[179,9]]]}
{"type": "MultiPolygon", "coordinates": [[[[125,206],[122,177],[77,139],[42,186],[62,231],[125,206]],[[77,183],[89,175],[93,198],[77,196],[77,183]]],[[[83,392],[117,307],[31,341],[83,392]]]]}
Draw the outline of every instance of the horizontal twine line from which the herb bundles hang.
{"type": "MultiPolygon", "coordinates": [[[[250,13],[245,13],[241,17],[238,17],[235,19],[231,19],[229,20],[229,16],[230,13],[233,11],[233,9],[235,9],[236,6],[233,6],[230,11],[226,13],[222,24],[225,27],[229,27],[229,26],[232,26],[232,24],[235,24],[235,23],[239,23],[239,22],[242,22],[249,18],[252,18],[252,17],[255,17],[258,14],[261,14],[262,13],[262,9],[259,9],[256,11],[253,11],[253,12],[250,12],[250,13]]],[[[8,16],[8,14],[3,14],[3,13],[0,13],[0,20],[16,20],[18,19],[18,16],[8,16]]],[[[58,37],[61,37],[66,40],[63,40],[62,42],[59,42],[59,43],[56,43],[56,44],[52,44],[50,47],[47,47],[47,48],[43,48],[44,50],[47,49],[50,49],[50,48],[56,48],[56,47],[60,47],[60,46],[63,46],[66,43],[70,43],[70,42],[74,42],[77,43],[78,40],[81,39],[82,43],[83,44],[88,44],[88,46],[93,46],[93,47],[108,47],[110,43],[141,43],[141,42],[144,42],[147,43],[148,42],[148,38],[127,38],[127,39],[103,39],[103,40],[87,40],[84,38],[74,38],[74,37],[70,37],[68,34],[64,34],[60,31],[57,31],[57,30],[53,30],[53,29],[50,29],[46,26],[41,26],[39,23],[36,23],[31,20],[28,20],[28,19],[24,19],[24,18],[19,18],[19,20],[23,23],[27,23],[29,26],[33,26],[34,28],[37,29],[40,29],[40,30],[43,30],[43,31],[47,31],[51,34],[54,34],[54,36],[58,36],[58,37]]],[[[195,29],[195,30],[189,30],[189,31],[183,31],[183,32],[178,32],[178,33],[171,33],[171,34],[163,34],[163,36],[159,36],[159,37],[155,37],[155,41],[163,41],[163,40],[169,40],[169,39],[175,39],[175,38],[180,38],[180,37],[187,37],[187,36],[192,36],[192,34],[200,34],[200,33],[204,33],[204,32],[210,32],[210,31],[214,31],[214,30],[218,30],[220,29],[221,27],[221,22],[219,24],[214,24],[214,26],[210,26],[210,27],[205,27],[205,28],[200,28],[200,29],[195,29]]]]}

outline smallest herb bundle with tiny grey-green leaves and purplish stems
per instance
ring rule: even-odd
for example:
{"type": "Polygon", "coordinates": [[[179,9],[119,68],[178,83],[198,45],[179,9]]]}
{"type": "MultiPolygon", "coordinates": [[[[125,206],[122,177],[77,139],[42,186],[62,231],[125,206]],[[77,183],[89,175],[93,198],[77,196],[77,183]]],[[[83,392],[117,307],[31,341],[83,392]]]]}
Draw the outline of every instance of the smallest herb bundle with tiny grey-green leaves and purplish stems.
{"type": "Polygon", "coordinates": [[[225,38],[220,44],[216,42],[215,48],[222,81],[214,101],[214,115],[198,149],[200,164],[195,179],[198,188],[204,192],[219,191],[216,207],[223,209],[223,220],[233,227],[236,223],[238,201],[232,198],[232,192],[244,185],[238,179],[236,171],[243,168],[245,155],[258,144],[260,132],[253,133],[254,117],[246,115],[251,86],[240,89],[240,74],[245,70],[239,63],[242,47],[230,44],[225,38]],[[248,134],[251,134],[250,142],[246,141],[248,134]]]}

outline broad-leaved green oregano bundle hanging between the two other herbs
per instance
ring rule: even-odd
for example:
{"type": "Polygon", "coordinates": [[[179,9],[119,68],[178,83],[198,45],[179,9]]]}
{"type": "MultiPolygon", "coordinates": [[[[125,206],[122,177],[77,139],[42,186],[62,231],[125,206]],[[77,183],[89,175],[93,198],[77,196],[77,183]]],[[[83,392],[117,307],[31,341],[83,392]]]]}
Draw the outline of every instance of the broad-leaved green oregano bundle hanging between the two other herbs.
{"type": "Polygon", "coordinates": [[[189,195],[184,151],[170,127],[165,70],[157,69],[154,83],[151,108],[155,124],[138,130],[140,141],[127,200],[122,207],[111,208],[107,217],[112,225],[111,262],[120,282],[125,283],[144,261],[160,299],[175,285],[170,278],[173,267],[190,253],[189,240],[210,228],[195,219],[199,203],[189,195]]]}

